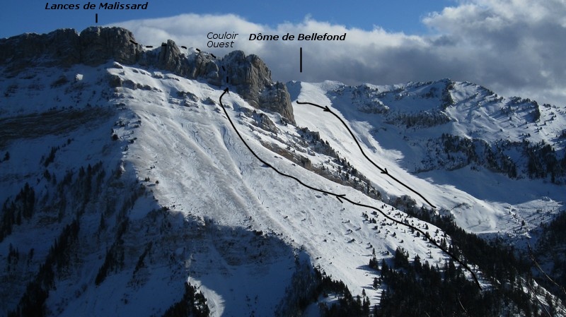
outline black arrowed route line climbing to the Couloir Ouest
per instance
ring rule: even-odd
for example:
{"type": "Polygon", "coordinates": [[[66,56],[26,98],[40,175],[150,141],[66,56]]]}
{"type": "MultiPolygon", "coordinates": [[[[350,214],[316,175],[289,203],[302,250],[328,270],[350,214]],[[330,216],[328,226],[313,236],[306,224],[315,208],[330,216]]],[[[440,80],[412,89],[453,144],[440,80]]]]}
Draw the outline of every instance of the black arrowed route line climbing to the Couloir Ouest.
{"type": "MultiPolygon", "coordinates": [[[[250,152],[253,154],[253,156],[255,156],[255,158],[257,158],[260,162],[262,162],[265,166],[270,167],[271,169],[273,169],[275,172],[277,172],[277,174],[284,176],[284,177],[288,177],[290,179],[294,179],[295,181],[297,181],[299,184],[305,186],[308,189],[312,189],[313,191],[318,191],[319,193],[325,193],[327,195],[330,196],[334,196],[336,197],[336,199],[338,201],[340,201],[340,203],[344,203],[342,200],[347,201],[348,203],[351,203],[352,205],[357,205],[359,207],[364,207],[364,208],[369,208],[372,210],[376,210],[377,212],[381,213],[381,215],[383,215],[383,217],[386,217],[386,219],[391,220],[395,223],[397,223],[398,225],[403,225],[405,227],[409,227],[410,229],[414,229],[417,232],[420,232],[420,234],[422,234],[423,237],[425,237],[430,243],[434,244],[434,246],[437,246],[438,249],[441,249],[442,251],[444,251],[444,253],[446,253],[448,256],[450,256],[452,259],[454,259],[454,261],[458,262],[460,265],[463,266],[463,268],[466,268],[466,270],[472,275],[473,280],[475,281],[475,284],[478,285],[478,287],[480,288],[480,290],[482,290],[482,287],[480,285],[480,282],[478,281],[478,277],[475,275],[475,273],[473,273],[473,270],[470,269],[470,267],[466,264],[463,263],[463,261],[461,261],[458,257],[454,256],[454,254],[452,254],[450,251],[444,249],[442,246],[440,246],[439,244],[437,244],[437,241],[435,241],[434,239],[432,239],[431,237],[427,237],[427,234],[422,231],[420,228],[417,228],[413,225],[409,225],[408,223],[402,222],[400,220],[396,220],[395,218],[387,215],[385,212],[383,212],[383,210],[376,208],[374,206],[371,205],[365,205],[363,203],[357,203],[352,201],[350,198],[347,198],[345,194],[337,194],[337,193],[333,193],[331,191],[325,191],[323,189],[317,189],[316,187],[313,186],[309,186],[307,184],[304,184],[303,181],[301,181],[300,179],[289,175],[289,174],[285,174],[284,172],[279,171],[279,169],[273,167],[273,165],[270,165],[268,162],[265,162],[265,160],[262,160],[261,157],[259,157],[258,154],[256,154],[254,152],[254,150],[252,150],[252,148],[250,148],[250,145],[248,145],[248,143],[246,142],[246,140],[244,140],[243,136],[240,134],[240,131],[238,131],[238,128],[236,128],[236,125],[233,123],[232,119],[230,118],[228,111],[226,111],[226,107],[224,107],[224,104],[222,103],[222,97],[224,97],[224,95],[226,95],[226,92],[229,92],[228,88],[224,89],[224,92],[222,92],[222,95],[220,95],[219,101],[220,101],[220,105],[222,107],[222,110],[224,110],[224,114],[226,114],[226,118],[228,118],[228,121],[230,122],[232,128],[234,129],[234,131],[236,131],[236,134],[238,134],[238,137],[240,138],[240,140],[242,140],[243,144],[246,145],[246,148],[248,148],[248,150],[250,150],[250,152]],[[342,198],[342,199],[340,199],[342,198]]],[[[320,107],[320,106],[318,106],[320,107]]]]}

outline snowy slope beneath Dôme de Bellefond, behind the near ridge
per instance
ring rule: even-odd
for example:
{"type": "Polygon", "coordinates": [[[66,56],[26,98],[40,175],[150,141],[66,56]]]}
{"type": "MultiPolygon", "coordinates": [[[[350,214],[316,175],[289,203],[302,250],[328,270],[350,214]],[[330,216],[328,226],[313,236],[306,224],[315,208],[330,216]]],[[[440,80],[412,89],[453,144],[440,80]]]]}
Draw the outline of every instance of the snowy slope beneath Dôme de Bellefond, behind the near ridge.
{"type": "MultiPolygon", "coordinates": [[[[533,132],[531,136],[534,135],[532,138],[536,139],[533,142],[544,140],[553,145],[558,153],[564,151],[562,139],[555,138],[560,135],[560,128],[563,127],[562,109],[550,107],[553,109],[551,111],[543,107],[545,110],[541,110],[541,120],[549,117],[548,120],[545,119],[546,132],[536,133],[541,131],[541,128],[537,127],[539,124],[529,125],[523,122],[533,111],[530,105],[516,106],[518,109],[514,110],[514,116],[517,118],[510,123],[504,120],[505,122],[500,124],[496,115],[500,112],[499,108],[503,107],[505,102],[513,104],[516,99],[508,101],[497,97],[497,100],[503,100],[502,104],[485,102],[487,106],[473,106],[482,104],[477,100],[478,95],[487,92],[483,91],[485,88],[468,83],[452,84],[454,88],[451,88],[450,93],[455,96],[451,97],[454,100],[451,103],[454,105],[451,104],[446,107],[446,111],[443,110],[440,92],[443,86],[450,84],[443,80],[437,83],[392,87],[362,85],[354,88],[336,82],[289,83],[288,86],[292,100],[328,105],[339,113],[348,122],[362,146],[366,148],[365,152],[374,162],[387,167],[391,174],[398,175],[403,182],[418,189],[429,201],[449,210],[458,225],[464,229],[478,233],[524,233],[548,219],[548,213],[558,212],[566,198],[563,185],[548,184],[542,179],[510,179],[481,165],[474,165],[473,162],[471,166],[470,162],[466,162],[463,167],[453,170],[429,167],[428,172],[416,175],[407,172],[407,169],[419,169],[417,167],[426,162],[427,157],[446,155],[444,149],[442,154],[438,155],[438,152],[432,152],[435,148],[428,147],[435,138],[441,138],[442,133],[472,138],[473,136],[466,133],[473,131],[476,137],[482,136],[486,143],[495,143],[500,138],[513,141],[533,132]],[[471,100],[473,98],[475,100],[471,100]],[[523,109],[525,107],[526,109],[523,109]],[[434,113],[445,116],[446,119],[437,121],[434,119],[437,117],[434,113]],[[408,127],[403,120],[411,114],[424,114],[415,116],[414,121],[429,120],[429,126],[408,127]],[[521,125],[521,122],[521,128],[512,128],[521,125]],[[531,129],[527,129],[529,127],[531,129]],[[501,130],[507,132],[502,133],[501,130]],[[497,131],[500,134],[497,134],[497,131]],[[543,138],[543,135],[549,137],[543,138]],[[521,226],[523,220],[526,223],[521,226]]],[[[305,104],[294,104],[294,110],[299,126],[308,126],[320,131],[321,136],[329,140],[333,148],[344,153],[347,160],[375,182],[377,188],[393,196],[403,193],[403,187],[388,181],[380,175],[379,170],[366,162],[339,121],[328,114],[325,115],[320,109],[305,104]]],[[[420,204],[424,203],[417,196],[413,195],[412,198],[420,204]]]]}

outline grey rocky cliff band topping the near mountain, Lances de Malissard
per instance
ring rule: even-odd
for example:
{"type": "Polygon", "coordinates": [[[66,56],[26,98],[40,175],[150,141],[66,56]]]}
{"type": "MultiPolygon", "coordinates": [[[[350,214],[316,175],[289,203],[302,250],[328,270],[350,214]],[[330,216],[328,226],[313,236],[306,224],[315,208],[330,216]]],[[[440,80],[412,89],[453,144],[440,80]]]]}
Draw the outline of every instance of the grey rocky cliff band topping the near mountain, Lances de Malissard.
{"type": "Polygon", "coordinates": [[[256,55],[231,52],[214,59],[206,52],[183,54],[168,40],[156,49],[138,44],[134,35],[123,28],[86,28],[80,34],[60,29],[49,34],[23,34],[0,39],[0,66],[7,73],[23,68],[86,64],[96,66],[114,60],[171,71],[191,79],[206,80],[212,85],[232,85],[253,107],[278,112],[294,123],[291,98],[282,83],[274,83],[271,71],[256,55]],[[224,66],[224,67],[222,67],[224,66]]]}

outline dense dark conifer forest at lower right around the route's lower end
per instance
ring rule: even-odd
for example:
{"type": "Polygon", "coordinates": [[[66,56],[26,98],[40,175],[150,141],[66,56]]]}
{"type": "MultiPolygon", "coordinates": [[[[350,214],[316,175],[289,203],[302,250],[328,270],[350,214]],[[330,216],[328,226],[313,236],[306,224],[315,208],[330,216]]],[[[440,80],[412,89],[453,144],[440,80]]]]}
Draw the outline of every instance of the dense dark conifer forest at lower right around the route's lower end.
{"type": "Polygon", "coordinates": [[[481,277],[490,286],[480,289],[454,261],[446,261],[439,268],[426,261],[422,263],[418,256],[410,261],[407,252],[397,249],[393,265],[386,261],[378,265],[376,258],[369,262],[371,268],[381,273],[381,277],[374,280],[374,287],[382,283],[386,287],[379,306],[374,308],[376,316],[505,316],[509,313],[548,316],[548,313],[556,313],[552,297],[545,296],[546,301],[540,301],[534,295],[543,293],[533,286],[532,263],[501,240],[480,239],[458,227],[450,217],[431,217],[425,210],[415,208],[408,211],[449,234],[452,238],[449,251],[464,259],[467,265],[477,265],[483,273],[481,277]]]}

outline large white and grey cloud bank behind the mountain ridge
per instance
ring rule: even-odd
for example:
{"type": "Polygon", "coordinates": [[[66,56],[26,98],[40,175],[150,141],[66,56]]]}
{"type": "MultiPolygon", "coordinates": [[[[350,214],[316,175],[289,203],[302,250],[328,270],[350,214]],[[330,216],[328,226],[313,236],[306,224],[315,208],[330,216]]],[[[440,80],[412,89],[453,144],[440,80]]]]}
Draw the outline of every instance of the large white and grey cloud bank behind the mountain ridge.
{"type": "Polygon", "coordinates": [[[453,78],[503,95],[566,104],[566,1],[474,0],[431,13],[422,22],[434,35],[415,36],[360,30],[306,17],[275,27],[236,15],[183,14],[117,23],[138,42],[158,45],[172,39],[219,56],[232,49],[208,49],[208,32],[236,32],[233,49],[258,54],[275,80],[391,84],[453,78]],[[250,33],[284,35],[313,32],[342,35],[344,42],[249,41],[250,33]],[[303,73],[299,73],[303,47],[303,73]]]}

